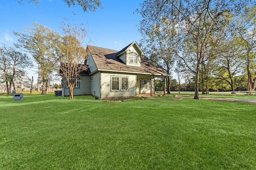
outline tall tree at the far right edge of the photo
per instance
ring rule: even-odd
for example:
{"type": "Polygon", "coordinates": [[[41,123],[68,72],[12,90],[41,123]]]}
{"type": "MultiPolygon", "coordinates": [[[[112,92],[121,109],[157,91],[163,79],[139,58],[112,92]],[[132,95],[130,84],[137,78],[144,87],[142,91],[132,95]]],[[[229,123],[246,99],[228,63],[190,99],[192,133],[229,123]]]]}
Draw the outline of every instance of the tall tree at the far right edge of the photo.
{"type": "Polygon", "coordinates": [[[246,51],[246,70],[248,76],[248,91],[254,91],[256,82],[256,6],[246,6],[236,22],[239,38],[244,42],[246,51]]]}

